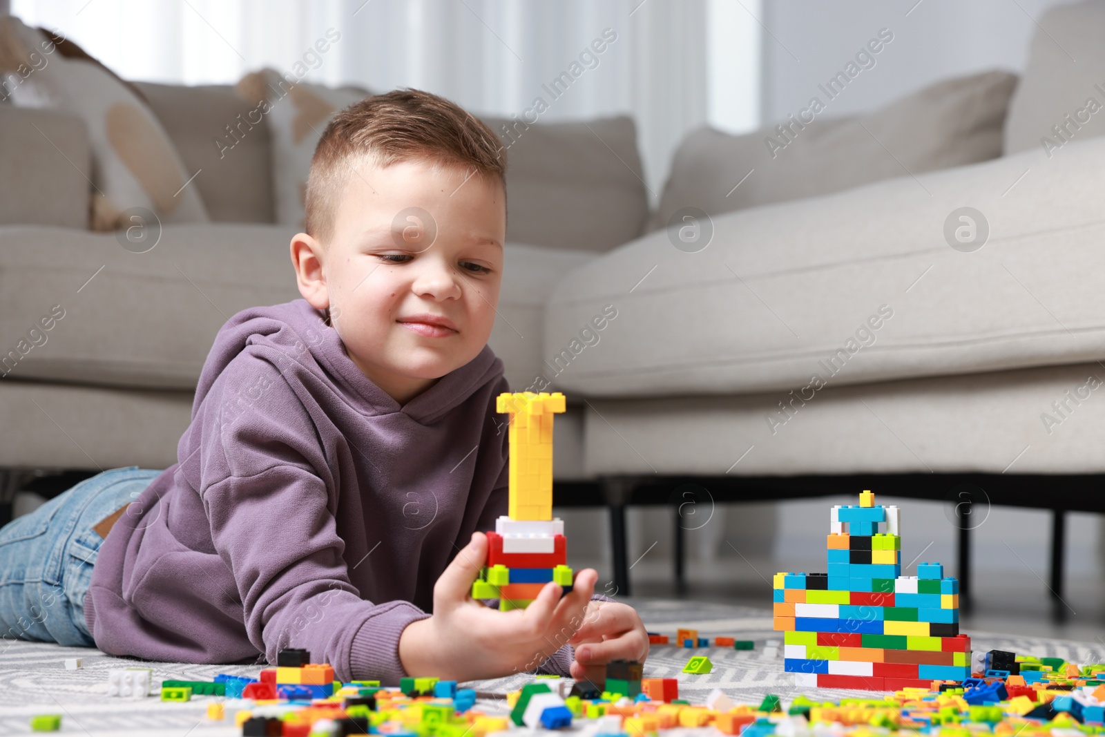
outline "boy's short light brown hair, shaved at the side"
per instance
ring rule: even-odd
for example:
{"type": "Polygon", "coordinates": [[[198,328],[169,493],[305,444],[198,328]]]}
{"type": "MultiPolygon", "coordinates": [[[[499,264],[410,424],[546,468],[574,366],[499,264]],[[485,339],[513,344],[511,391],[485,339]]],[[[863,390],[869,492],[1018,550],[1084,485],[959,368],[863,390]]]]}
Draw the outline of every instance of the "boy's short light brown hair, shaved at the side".
{"type": "Polygon", "coordinates": [[[334,235],[341,191],[366,160],[380,168],[429,161],[434,170],[460,167],[472,176],[497,177],[505,206],[506,149],[492,129],[444,97],[392,90],[340,110],[318,139],[307,178],[305,230],[324,249],[334,235]]]}

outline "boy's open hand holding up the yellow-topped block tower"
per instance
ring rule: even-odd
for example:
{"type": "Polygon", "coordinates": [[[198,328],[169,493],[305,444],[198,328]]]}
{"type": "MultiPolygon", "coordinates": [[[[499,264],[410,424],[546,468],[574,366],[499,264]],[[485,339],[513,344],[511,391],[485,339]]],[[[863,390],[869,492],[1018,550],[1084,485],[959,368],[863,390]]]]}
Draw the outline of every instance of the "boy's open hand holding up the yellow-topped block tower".
{"type": "Polygon", "coordinates": [[[486,559],[487,536],[474,533],[433,587],[433,615],[411,622],[399,638],[407,673],[472,681],[528,671],[583,623],[599,578],[594,569],[579,571],[565,597],[549,582],[526,609],[499,612],[470,596],[486,559]]]}

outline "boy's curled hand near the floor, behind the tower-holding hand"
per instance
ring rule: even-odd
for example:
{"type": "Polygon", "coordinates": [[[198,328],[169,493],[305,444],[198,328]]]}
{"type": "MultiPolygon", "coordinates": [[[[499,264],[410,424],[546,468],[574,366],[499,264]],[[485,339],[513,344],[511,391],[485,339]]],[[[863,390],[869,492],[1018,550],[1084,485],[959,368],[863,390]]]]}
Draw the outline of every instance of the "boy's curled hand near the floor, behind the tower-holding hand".
{"type": "Polygon", "coordinates": [[[604,682],[610,661],[643,663],[649,655],[649,633],[636,610],[615,601],[589,602],[583,625],[568,642],[576,649],[571,677],[596,686],[604,682]]]}

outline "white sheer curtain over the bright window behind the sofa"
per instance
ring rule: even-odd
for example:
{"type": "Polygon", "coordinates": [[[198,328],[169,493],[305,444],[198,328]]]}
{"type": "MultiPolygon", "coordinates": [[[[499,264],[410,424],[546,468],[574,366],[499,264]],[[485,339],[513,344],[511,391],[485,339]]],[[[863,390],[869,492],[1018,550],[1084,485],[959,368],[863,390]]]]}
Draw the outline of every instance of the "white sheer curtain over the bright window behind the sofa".
{"type": "Polygon", "coordinates": [[[759,25],[753,15],[758,0],[10,0],[10,6],[24,22],[63,33],[129,80],[232,84],[261,66],[286,71],[299,62],[309,67],[311,81],[379,92],[418,87],[482,114],[520,115],[537,97],[548,104],[539,118],[546,122],[630,114],[654,197],[688,130],[707,120],[737,130],[758,123],[759,25]],[[726,23],[720,32],[718,22],[726,23]],[[328,29],[340,39],[325,53],[313,52],[328,29]],[[588,56],[604,31],[615,40],[588,56]],[[554,98],[546,86],[564,73],[572,82],[554,98]]]}

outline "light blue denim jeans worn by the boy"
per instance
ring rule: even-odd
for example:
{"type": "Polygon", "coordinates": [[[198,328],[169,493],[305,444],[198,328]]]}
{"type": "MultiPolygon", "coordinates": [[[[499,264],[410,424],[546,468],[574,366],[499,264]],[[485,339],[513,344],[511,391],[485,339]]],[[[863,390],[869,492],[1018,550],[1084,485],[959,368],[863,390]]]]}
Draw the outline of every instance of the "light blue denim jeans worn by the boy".
{"type": "Polygon", "coordinates": [[[93,528],[160,473],[105,471],[0,529],[0,636],[95,646],[84,594],[104,539],[93,528]]]}

